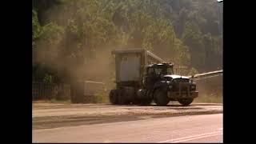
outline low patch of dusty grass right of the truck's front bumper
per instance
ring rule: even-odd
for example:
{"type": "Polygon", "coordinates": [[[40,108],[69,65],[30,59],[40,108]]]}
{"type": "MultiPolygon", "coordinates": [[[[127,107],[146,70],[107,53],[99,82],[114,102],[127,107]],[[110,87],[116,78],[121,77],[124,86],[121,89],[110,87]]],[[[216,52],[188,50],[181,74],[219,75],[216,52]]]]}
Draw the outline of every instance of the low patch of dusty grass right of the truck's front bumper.
{"type": "Polygon", "coordinates": [[[194,102],[222,103],[223,97],[222,95],[202,94],[198,98],[194,98],[194,102]]]}

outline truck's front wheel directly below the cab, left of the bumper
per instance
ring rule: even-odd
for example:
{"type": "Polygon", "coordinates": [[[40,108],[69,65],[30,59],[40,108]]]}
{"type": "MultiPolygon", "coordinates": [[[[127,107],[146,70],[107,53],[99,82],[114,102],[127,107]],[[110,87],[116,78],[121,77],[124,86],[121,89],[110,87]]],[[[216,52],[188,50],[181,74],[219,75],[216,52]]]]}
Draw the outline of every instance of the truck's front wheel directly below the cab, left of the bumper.
{"type": "Polygon", "coordinates": [[[166,91],[156,90],[154,93],[154,102],[157,106],[166,106],[170,102],[169,98],[167,98],[166,91]]]}

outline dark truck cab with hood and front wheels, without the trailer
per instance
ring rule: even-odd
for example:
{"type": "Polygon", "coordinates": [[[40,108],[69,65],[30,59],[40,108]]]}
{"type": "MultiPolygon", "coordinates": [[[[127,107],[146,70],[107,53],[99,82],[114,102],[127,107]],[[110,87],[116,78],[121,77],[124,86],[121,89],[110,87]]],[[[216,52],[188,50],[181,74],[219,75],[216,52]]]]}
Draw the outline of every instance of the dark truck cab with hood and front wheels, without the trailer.
{"type": "Polygon", "coordinates": [[[174,74],[172,63],[146,66],[143,78],[147,97],[153,98],[158,106],[166,106],[170,101],[178,101],[183,106],[188,106],[198,97],[195,82],[188,77],[174,74]]]}

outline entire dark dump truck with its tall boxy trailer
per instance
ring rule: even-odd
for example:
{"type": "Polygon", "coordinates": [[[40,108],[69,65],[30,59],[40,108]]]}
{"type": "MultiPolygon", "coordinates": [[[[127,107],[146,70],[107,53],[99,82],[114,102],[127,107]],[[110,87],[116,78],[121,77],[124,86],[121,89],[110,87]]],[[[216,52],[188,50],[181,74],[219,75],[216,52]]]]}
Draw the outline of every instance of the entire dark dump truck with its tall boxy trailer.
{"type": "Polygon", "coordinates": [[[189,106],[198,97],[192,79],[174,74],[174,64],[165,62],[149,50],[113,50],[115,58],[116,89],[110,90],[114,105],[166,106],[178,101],[189,106]]]}

